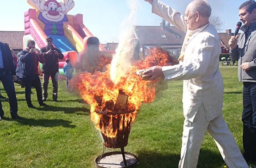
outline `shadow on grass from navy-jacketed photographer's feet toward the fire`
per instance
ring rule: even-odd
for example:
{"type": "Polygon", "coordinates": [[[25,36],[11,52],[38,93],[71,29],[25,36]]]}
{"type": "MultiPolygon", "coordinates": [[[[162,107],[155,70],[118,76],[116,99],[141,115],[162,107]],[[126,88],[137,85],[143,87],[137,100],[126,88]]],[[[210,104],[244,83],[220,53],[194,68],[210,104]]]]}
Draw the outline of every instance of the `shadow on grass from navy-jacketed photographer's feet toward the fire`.
{"type": "Polygon", "coordinates": [[[44,106],[44,108],[37,108],[38,111],[64,111],[64,113],[77,113],[78,115],[89,115],[90,109],[80,107],[55,107],[44,106]],[[84,113],[82,113],[84,112],[84,113]]]}

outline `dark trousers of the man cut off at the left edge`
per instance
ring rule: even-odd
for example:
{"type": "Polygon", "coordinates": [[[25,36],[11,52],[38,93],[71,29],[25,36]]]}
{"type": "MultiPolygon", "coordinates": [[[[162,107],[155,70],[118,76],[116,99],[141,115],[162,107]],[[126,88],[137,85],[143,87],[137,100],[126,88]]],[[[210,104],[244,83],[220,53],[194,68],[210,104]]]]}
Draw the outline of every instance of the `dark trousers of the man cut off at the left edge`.
{"type": "MultiPolygon", "coordinates": [[[[4,69],[0,68],[0,80],[9,98],[11,116],[15,116],[17,115],[17,111],[18,111],[18,104],[17,104],[15,88],[12,80],[12,75],[4,73],[4,69]]],[[[4,111],[2,109],[1,101],[0,101],[0,115],[2,117],[4,116],[4,111]]]]}

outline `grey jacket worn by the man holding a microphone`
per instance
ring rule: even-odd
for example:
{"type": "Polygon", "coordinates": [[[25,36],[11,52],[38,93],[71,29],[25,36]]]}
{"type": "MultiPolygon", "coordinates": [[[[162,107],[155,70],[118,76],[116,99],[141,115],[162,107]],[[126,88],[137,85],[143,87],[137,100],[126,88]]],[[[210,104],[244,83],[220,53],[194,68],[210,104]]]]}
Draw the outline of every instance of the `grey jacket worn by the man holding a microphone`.
{"type": "Polygon", "coordinates": [[[256,21],[251,22],[249,27],[241,27],[243,32],[238,38],[236,49],[230,49],[229,53],[233,60],[238,60],[238,79],[240,82],[256,82],[256,21]],[[245,32],[248,37],[246,38],[245,32]],[[249,62],[249,70],[241,69],[242,63],[249,62]]]}

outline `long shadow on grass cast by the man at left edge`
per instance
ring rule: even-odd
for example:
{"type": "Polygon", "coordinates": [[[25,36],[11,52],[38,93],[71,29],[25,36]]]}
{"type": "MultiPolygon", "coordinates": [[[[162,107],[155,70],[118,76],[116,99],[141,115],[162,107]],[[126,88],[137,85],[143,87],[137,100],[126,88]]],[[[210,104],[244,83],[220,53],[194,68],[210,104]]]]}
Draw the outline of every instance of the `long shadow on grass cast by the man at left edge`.
{"type": "MultiPolygon", "coordinates": [[[[13,119],[4,118],[6,121],[12,121],[13,119]]],[[[71,121],[63,120],[63,119],[32,119],[32,118],[24,118],[22,120],[15,119],[18,123],[29,126],[40,126],[40,127],[70,127],[74,128],[76,125],[70,125],[71,121]]]]}

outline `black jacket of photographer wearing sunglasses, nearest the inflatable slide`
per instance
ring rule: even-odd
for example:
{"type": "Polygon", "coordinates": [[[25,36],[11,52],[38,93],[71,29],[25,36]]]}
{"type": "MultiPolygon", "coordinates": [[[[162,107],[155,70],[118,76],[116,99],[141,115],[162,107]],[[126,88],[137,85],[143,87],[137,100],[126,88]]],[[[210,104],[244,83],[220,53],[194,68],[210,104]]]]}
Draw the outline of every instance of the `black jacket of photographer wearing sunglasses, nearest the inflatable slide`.
{"type": "Polygon", "coordinates": [[[58,59],[63,59],[64,55],[60,52],[59,49],[52,47],[52,50],[55,50],[59,55],[46,54],[49,51],[49,47],[42,47],[41,52],[44,55],[45,63],[42,66],[42,73],[55,74],[59,72],[59,61],[58,59]]]}

